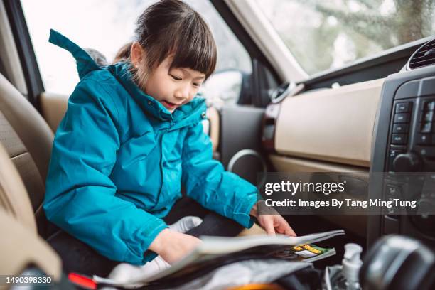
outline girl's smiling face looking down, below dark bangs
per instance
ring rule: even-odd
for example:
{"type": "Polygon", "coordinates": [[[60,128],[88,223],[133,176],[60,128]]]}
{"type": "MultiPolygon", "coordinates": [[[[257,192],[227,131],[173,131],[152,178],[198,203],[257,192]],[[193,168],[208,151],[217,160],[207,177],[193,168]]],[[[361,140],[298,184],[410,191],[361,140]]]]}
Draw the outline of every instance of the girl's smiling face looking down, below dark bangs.
{"type": "Polygon", "coordinates": [[[173,68],[171,57],[167,57],[149,75],[145,83],[145,93],[163,104],[169,112],[190,102],[198,93],[205,80],[205,74],[190,68],[173,68]]]}

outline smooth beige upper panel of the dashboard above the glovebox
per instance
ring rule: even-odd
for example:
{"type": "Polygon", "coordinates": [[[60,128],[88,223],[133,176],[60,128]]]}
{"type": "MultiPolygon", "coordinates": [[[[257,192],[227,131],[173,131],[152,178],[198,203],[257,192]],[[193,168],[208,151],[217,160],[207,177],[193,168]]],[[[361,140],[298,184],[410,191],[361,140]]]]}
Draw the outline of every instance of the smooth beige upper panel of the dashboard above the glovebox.
{"type": "Polygon", "coordinates": [[[276,120],[279,155],[370,167],[370,147],[384,80],[287,97],[276,120]]]}

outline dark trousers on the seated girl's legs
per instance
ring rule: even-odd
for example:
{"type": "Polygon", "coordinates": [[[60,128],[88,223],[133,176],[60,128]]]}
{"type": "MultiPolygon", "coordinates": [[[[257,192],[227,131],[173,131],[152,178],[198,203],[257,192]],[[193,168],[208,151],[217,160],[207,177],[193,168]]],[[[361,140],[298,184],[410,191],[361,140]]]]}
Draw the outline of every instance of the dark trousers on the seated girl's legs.
{"type": "MultiPolygon", "coordinates": [[[[199,203],[186,197],[178,200],[163,220],[171,225],[188,215],[203,219],[198,227],[186,232],[186,234],[195,237],[200,235],[234,237],[243,230],[243,227],[237,222],[206,210],[199,203]]],[[[55,232],[48,238],[47,242],[58,252],[63,262],[63,271],[67,274],[77,272],[89,276],[96,274],[105,277],[119,264],[119,262],[107,259],[107,257],[97,253],[92,247],[68,235],[63,230],[55,232]]]]}

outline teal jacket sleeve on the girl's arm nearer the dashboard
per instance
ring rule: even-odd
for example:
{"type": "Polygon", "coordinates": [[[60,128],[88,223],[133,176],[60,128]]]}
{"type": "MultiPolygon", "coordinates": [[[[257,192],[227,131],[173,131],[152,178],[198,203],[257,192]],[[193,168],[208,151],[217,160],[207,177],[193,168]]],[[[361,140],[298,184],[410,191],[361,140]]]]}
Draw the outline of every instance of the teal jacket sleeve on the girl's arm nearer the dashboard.
{"type": "Polygon", "coordinates": [[[210,137],[202,123],[190,127],[183,143],[182,182],[187,195],[209,210],[252,227],[254,218],[249,211],[257,201],[257,188],[225,171],[212,154],[210,137]]]}

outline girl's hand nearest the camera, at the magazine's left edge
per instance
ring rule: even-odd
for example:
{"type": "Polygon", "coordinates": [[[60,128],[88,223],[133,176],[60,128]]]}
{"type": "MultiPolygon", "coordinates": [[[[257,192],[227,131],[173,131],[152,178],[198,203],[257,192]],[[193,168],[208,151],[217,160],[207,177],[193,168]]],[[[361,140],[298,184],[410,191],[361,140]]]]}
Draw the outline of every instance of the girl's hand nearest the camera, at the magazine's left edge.
{"type": "Polygon", "coordinates": [[[200,243],[201,240],[197,237],[165,229],[151,242],[149,249],[173,264],[192,252],[200,243]]]}

